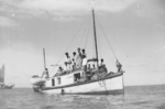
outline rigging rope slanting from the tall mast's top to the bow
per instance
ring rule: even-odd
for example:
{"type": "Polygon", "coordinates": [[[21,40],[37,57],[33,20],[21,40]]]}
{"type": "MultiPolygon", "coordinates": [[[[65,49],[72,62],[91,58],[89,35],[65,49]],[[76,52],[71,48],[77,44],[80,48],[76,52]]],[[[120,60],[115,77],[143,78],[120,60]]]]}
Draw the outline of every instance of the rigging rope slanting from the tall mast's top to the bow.
{"type": "Polygon", "coordinates": [[[103,31],[103,28],[101,26],[101,23],[100,23],[100,21],[99,21],[99,19],[98,19],[97,15],[96,15],[96,18],[97,18],[97,20],[98,20],[98,24],[100,25],[100,28],[101,28],[101,30],[102,30],[102,33],[105,34],[106,41],[108,42],[111,52],[113,53],[116,59],[118,59],[118,58],[117,58],[117,55],[116,55],[116,53],[114,53],[114,51],[113,51],[113,48],[112,48],[112,46],[111,46],[111,44],[110,44],[110,41],[109,41],[109,39],[108,39],[106,32],[103,31]]]}

